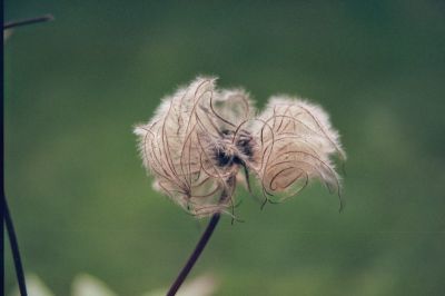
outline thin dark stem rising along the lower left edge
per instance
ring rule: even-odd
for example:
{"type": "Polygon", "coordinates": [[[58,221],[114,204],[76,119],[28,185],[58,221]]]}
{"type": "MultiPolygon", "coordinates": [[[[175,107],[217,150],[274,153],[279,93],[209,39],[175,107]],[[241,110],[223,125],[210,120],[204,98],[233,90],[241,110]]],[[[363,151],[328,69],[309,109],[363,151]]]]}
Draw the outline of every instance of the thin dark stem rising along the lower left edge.
{"type": "Polygon", "coordinates": [[[9,243],[11,245],[12,258],[16,266],[17,280],[19,282],[19,290],[21,296],[27,296],[27,285],[24,283],[23,266],[21,265],[19,244],[17,243],[16,231],[12,225],[11,214],[9,211],[7,198],[3,195],[4,205],[4,224],[7,226],[9,243]]]}

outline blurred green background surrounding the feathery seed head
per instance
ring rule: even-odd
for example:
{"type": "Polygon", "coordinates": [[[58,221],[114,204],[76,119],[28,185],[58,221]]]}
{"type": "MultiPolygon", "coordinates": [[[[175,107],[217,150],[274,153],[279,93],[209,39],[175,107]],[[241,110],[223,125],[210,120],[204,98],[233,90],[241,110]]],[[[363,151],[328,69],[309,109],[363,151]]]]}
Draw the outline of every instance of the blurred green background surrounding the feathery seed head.
{"type": "MultiPolygon", "coordinates": [[[[244,196],[191,277],[217,295],[445,295],[443,1],[17,1],[51,12],[4,45],[6,191],[24,267],[120,295],[169,286],[197,221],[151,189],[131,134],[197,75],[325,107],[348,154],[344,198],[314,184],[264,210],[244,196]]],[[[6,285],[14,285],[6,249],[6,285]]]]}

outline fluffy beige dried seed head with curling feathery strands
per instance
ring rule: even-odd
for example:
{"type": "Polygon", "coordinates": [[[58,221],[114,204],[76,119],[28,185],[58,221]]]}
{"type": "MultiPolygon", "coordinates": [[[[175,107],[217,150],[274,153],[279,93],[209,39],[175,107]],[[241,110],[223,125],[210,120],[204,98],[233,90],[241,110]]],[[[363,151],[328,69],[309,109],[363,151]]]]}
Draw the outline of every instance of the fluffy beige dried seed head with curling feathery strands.
{"type": "Polygon", "coordinates": [[[330,156],[346,156],[320,107],[273,97],[257,116],[246,91],[218,90],[215,81],[197,78],[136,127],[156,189],[200,217],[230,214],[241,169],[248,186],[249,171],[256,175],[266,201],[296,195],[312,179],[339,191],[330,156]]]}

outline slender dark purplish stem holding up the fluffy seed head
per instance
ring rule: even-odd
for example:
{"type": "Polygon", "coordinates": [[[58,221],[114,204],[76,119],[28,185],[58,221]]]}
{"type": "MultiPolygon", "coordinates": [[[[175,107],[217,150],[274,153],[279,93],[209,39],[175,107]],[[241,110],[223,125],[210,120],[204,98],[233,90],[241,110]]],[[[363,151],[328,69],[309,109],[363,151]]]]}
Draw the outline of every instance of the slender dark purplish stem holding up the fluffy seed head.
{"type": "Polygon", "coordinates": [[[188,274],[190,273],[191,268],[195,266],[196,262],[198,260],[199,256],[201,255],[204,248],[206,247],[208,240],[211,237],[211,234],[215,230],[220,218],[220,214],[214,214],[209,224],[207,225],[206,230],[204,231],[201,238],[199,239],[198,244],[195,247],[194,253],[191,253],[190,257],[188,258],[186,265],[184,266],[182,270],[179,273],[178,277],[175,279],[175,283],[171,285],[170,289],[167,293],[167,296],[174,296],[178,292],[179,287],[182,285],[184,280],[187,278],[188,274]]]}

